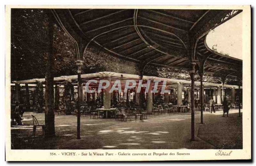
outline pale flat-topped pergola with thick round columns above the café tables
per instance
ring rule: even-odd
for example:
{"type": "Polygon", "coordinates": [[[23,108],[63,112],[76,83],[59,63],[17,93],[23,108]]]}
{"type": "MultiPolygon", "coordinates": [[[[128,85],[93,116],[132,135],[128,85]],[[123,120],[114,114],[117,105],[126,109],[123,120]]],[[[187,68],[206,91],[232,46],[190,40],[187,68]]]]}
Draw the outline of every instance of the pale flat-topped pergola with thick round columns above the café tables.
{"type": "MultiPolygon", "coordinates": [[[[120,81],[121,84],[121,89],[122,91],[124,90],[124,87],[126,85],[127,81],[130,80],[134,80],[136,81],[136,86],[132,89],[136,89],[138,88],[138,84],[140,81],[139,75],[132,75],[132,74],[124,74],[124,73],[116,73],[116,72],[108,72],[108,71],[104,71],[104,72],[98,72],[98,73],[91,73],[91,74],[82,74],[81,75],[81,84],[82,84],[82,91],[81,93],[83,93],[83,95],[86,93],[85,92],[85,84],[88,83],[89,80],[96,80],[97,83],[90,83],[89,84],[89,89],[98,89],[99,87],[99,82],[102,79],[105,79],[106,77],[109,78],[111,85],[113,85],[115,83],[116,80],[120,81]]],[[[62,86],[64,85],[65,87],[65,82],[69,81],[70,83],[72,83],[73,85],[77,84],[77,80],[78,77],[77,75],[65,75],[65,76],[60,76],[60,77],[54,77],[54,85],[57,86],[62,86]]],[[[150,89],[154,88],[154,86],[157,86],[157,89],[159,92],[161,92],[162,88],[163,88],[163,83],[165,82],[164,85],[164,90],[173,90],[173,95],[175,97],[173,97],[176,100],[176,97],[178,99],[177,101],[177,105],[182,105],[182,88],[186,88],[186,90],[188,91],[188,102],[190,103],[190,99],[191,99],[191,81],[188,80],[181,80],[181,79],[173,79],[173,78],[163,78],[163,77],[155,77],[155,76],[143,76],[143,80],[151,80],[152,84],[150,89]],[[159,82],[157,82],[157,85],[155,85],[155,83],[153,82],[154,80],[157,80],[159,82]],[[176,92],[177,90],[177,92],[176,92]],[[177,94],[177,96],[176,96],[177,94]]],[[[144,82],[145,82],[144,81],[144,82]]],[[[25,85],[25,88],[28,89],[28,86],[35,86],[38,82],[45,84],[45,78],[35,78],[35,79],[29,79],[29,80],[20,80],[20,81],[12,81],[15,84],[23,84],[25,85]],[[29,84],[29,85],[28,85],[29,84]]],[[[195,86],[200,86],[200,82],[196,82],[195,81],[195,86]]],[[[207,82],[203,82],[204,85],[204,89],[212,89],[212,96],[214,96],[215,98],[214,101],[217,104],[221,104],[221,98],[223,99],[223,95],[224,92],[222,91],[221,93],[221,88],[223,89],[231,89],[231,99],[232,102],[235,102],[235,88],[239,88],[237,85],[228,85],[228,84],[220,84],[220,83],[207,83],[207,82]],[[216,91],[217,90],[217,91],[216,91]],[[222,94],[222,97],[221,97],[222,94]],[[217,97],[217,100],[216,100],[217,97]]],[[[58,86],[58,88],[59,88],[58,86]]],[[[63,87],[63,86],[62,86],[63,87]]],[[[75,87],[76,90],[77,86],[75,87]]],[[[242,88],[242,87],[241,87],[242,88]]],[[[15,88],[15,90],[19,90],[20,88],[15,88]]],[[[27,90],[28,91],[28,90],[27,90]]],[[[97,91],[96,91],[97,93],[97,91]]],[[[108,91],[104,91],[104,93],[108,93],[108,91]]],[[[147,96],[150,96],[151,92],[147,93],[147,96]]],[[[16,92],[16,94],[19,94],[19,92],[16,92]]],[[[86,93],[87,95],[87,93],[86,93]]],[[[128,93],[126,94],[128,95],[128,93]]],[[[139,96],[139,94],[136,94],[139,96]]],[[[93,94],[93,96],[95,97],[95,93],[93,94]]],[[[110,95],[111,96],[111,95],[110,95]]],[[[139,103],[138,101],[138,96],[136,97],[136,102],[139,103]]],[[[83,97],[84,99],[84,97],[83,97]]],[[[108,107],[107,103],[110,103],[110,98],[104,98],[105,102],[104,102],[104,107],[108,107]],[[109,101],[107,101],[109,100],[109,101]]],[[[88,101],[88,100],[86,100],[88,101]]],[[[164,93],[164,103],[169,103],[169,93],[164,93]]],[[[147,111],[148,113],[152,112],[152,105],[153,105],[153,101],[152,98],[147,98],[147,111]]]]}

